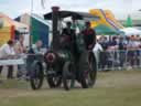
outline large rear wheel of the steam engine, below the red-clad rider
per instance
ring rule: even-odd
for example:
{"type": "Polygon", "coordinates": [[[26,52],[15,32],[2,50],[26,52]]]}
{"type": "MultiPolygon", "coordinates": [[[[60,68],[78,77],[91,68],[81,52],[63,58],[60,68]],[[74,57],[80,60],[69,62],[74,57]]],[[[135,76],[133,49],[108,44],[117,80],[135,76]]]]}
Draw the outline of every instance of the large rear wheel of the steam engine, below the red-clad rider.
{"type": "Polygon", "coordinates": [[[96,82],[97,64],[93,52],[84,52],[79,60],[79,80],[83,88],[93,87],[96,82]]]}

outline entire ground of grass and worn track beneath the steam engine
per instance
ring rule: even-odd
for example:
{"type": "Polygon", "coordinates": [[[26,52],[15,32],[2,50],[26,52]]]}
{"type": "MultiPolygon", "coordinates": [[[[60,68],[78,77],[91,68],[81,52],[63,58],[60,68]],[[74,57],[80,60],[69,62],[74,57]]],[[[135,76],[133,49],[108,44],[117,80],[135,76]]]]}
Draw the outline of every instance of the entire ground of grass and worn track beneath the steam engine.
{"type": "Polygon", "coordinates": [[[98,73],[94,88],[30,89],[23,81],[0,84],[0,106],[141,106],[141,71],[98,73]]]}

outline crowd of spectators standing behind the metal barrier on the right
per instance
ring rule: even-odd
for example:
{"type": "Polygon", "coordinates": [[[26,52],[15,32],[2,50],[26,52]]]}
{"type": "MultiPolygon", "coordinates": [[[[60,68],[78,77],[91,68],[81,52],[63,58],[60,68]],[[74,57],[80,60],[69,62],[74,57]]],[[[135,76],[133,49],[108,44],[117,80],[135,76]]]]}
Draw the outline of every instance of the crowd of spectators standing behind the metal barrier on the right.
{"type": "Polygon", "coordinates": [[[140,66],[141,38],[131,36],[100,36],[96,46],[99,47],[98,67],[123,67],[124,65],[140,66]]]}

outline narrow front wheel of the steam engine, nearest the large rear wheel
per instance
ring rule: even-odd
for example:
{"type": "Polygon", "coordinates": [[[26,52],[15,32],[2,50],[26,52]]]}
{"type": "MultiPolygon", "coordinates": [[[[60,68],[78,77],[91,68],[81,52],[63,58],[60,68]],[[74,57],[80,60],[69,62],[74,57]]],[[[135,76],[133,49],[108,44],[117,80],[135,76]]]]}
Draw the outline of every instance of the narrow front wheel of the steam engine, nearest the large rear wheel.
{"type": "Polygon", "coordinates": [[[63,68],[63,85],[66,91],[69,91],[75,80],[74,68],[70,62],[66,62],[63,68]]]}

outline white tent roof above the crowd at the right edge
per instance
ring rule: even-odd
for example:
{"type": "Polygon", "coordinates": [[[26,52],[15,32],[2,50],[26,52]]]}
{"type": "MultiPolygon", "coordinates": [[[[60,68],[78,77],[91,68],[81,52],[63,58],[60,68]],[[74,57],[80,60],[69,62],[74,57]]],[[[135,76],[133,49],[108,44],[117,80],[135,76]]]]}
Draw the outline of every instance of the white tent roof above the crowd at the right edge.
{"type": "Polygon", "coordinates": [[[124,35],[141,35],[141,30],[138,30],[135,28],[124,28],[120,31],[122,31],[124,35]]]}

